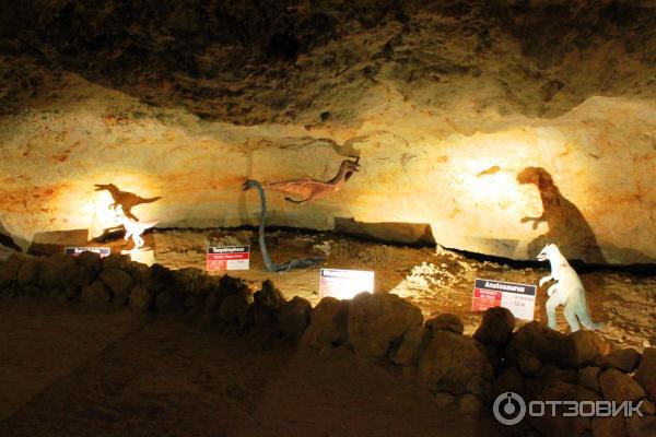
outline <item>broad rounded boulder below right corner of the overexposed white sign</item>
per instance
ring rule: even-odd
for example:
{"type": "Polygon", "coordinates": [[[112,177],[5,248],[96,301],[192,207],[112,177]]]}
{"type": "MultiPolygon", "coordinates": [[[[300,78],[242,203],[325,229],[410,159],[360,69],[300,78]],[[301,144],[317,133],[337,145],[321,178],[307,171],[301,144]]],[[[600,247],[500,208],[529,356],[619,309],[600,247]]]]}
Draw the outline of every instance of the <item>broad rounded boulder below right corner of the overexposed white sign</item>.
{"type": "Polygon", "coordinates": [[[396,294],[360,293],[349,304],[349,339],[360,357],[384,358],[410,327],[421,326],[419,307],[396,294]]]}

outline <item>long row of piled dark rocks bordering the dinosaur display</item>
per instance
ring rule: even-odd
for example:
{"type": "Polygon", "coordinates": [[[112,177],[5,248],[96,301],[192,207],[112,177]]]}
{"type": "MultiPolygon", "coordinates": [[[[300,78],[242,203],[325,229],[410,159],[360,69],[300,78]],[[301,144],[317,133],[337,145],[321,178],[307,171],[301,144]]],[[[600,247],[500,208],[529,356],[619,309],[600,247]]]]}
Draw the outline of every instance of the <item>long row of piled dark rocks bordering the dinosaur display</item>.
{"type": "Polygon", "coordinates": [[[505,392],[527,402],[633,401],[642,416],[528,417],[515,430],[548,436],[654,436],[656,349],[641,355],[611,351],[590,331],[562,334],[534,321],[515,330],[505,308],[484,312],[473,336],[444,314],[423,321],[418,307],[394,294],[362,293],[351,300],[326,297],[313,309],[285,300],[271,281],[254,291],[229,275],[198,269],[150,268],[127,256],[101,259],[12,253],[0,261],[0,297],[56,296],[62,302],[176,312],[201,327],[286,338],[317,350],[350,347],[356,357],[400,366],[438,403],[477,415],[505,392]],[[532,429],[532,430],[530,430],[532,429]]]}

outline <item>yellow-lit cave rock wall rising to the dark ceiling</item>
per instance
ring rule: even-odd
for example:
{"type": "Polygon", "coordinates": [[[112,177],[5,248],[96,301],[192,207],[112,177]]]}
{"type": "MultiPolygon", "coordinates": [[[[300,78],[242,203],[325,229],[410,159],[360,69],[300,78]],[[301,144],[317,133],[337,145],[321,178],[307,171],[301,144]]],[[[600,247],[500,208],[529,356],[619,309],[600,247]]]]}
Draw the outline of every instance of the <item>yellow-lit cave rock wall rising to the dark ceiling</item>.
{"type": "Polygon", "coordinates": [[[552,241],[656,260],[648,2],[289,2],[249,24],[246,3],[32,3],[0,59],[0,233],[20,246],[115,224],[94,184],[162,196],[136,209],[159,226],[254,225],[246,178],[329,179],[356,155],[330,197],[269,193],[270,224],[430,224],[443,246],[513,259],[552,241]]]}

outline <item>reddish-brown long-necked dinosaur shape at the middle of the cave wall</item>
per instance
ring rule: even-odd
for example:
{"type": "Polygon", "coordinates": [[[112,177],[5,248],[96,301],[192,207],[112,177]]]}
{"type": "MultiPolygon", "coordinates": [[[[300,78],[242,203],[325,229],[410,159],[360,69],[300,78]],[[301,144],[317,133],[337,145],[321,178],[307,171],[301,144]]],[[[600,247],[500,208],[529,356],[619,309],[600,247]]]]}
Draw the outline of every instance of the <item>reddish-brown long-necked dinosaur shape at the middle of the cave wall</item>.
{"type": "Polygon", "coordinates": [[[353,161],[344,160],[339,166],[337,175],[328,180],[321,181],[312,178],[283,180],[280,182],[265,182],[265,188],[270,188],[276,191],[281,191],[286,194],[297,196],[302,200],[284,198],[286,201],[294,203],[305,203],[313,199],[318,199],[339,190],[351,178],[354,173],[360,172],[360,158],[353,161]]]}

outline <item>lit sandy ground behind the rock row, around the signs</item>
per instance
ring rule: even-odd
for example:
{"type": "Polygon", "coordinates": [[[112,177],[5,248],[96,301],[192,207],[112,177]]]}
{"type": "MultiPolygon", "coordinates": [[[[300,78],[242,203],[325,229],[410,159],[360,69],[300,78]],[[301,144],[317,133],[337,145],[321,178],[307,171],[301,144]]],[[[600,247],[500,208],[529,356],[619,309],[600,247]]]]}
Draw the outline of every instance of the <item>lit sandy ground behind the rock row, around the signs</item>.
{"type": "MultiPolygon", "coordinates": [[[[147,245],[153,248],[156,261],[171,269],[204,269],[204,248],[209,245],[251,244],[251,270],[231,274],[253,282],[256,287],[261,281],[271,279],[288,298],[302,296],[313,306],[320,300],[320,268],[374,270],[376,292],[396,293],[407,298],[422,309],[424,318],[456,314],[462,319],[466,333],[473,333],[481,321],[481,315],[470,310],[475,279],[537,284],[540,277],[549,274],[547,262],[539,269],[516,269],[468,259],[449,250],[437,252],[434,248],[384,245],[342,235],[296,231],[267,234],[267,247],[273,262],[309,256],[323,256],[326,261],[314,268],[270,273],[262,269],[255,232],[157,231],[147,237],[147,245]]],[[[114,244],[122,245],[122,241],[114,244]]],[[[604,336],[639,351],[649,344],[656,345],[655,276],[599,270],[582,273],[581,277],[587,290],[593,319],[606,323],[604,336]]],[[[535,310],[535,318],[544,322],[547,286],[538,291],[535,310]]],[[[559,329],[566,332],[569,328],[560,311],[559,329]]]]}

